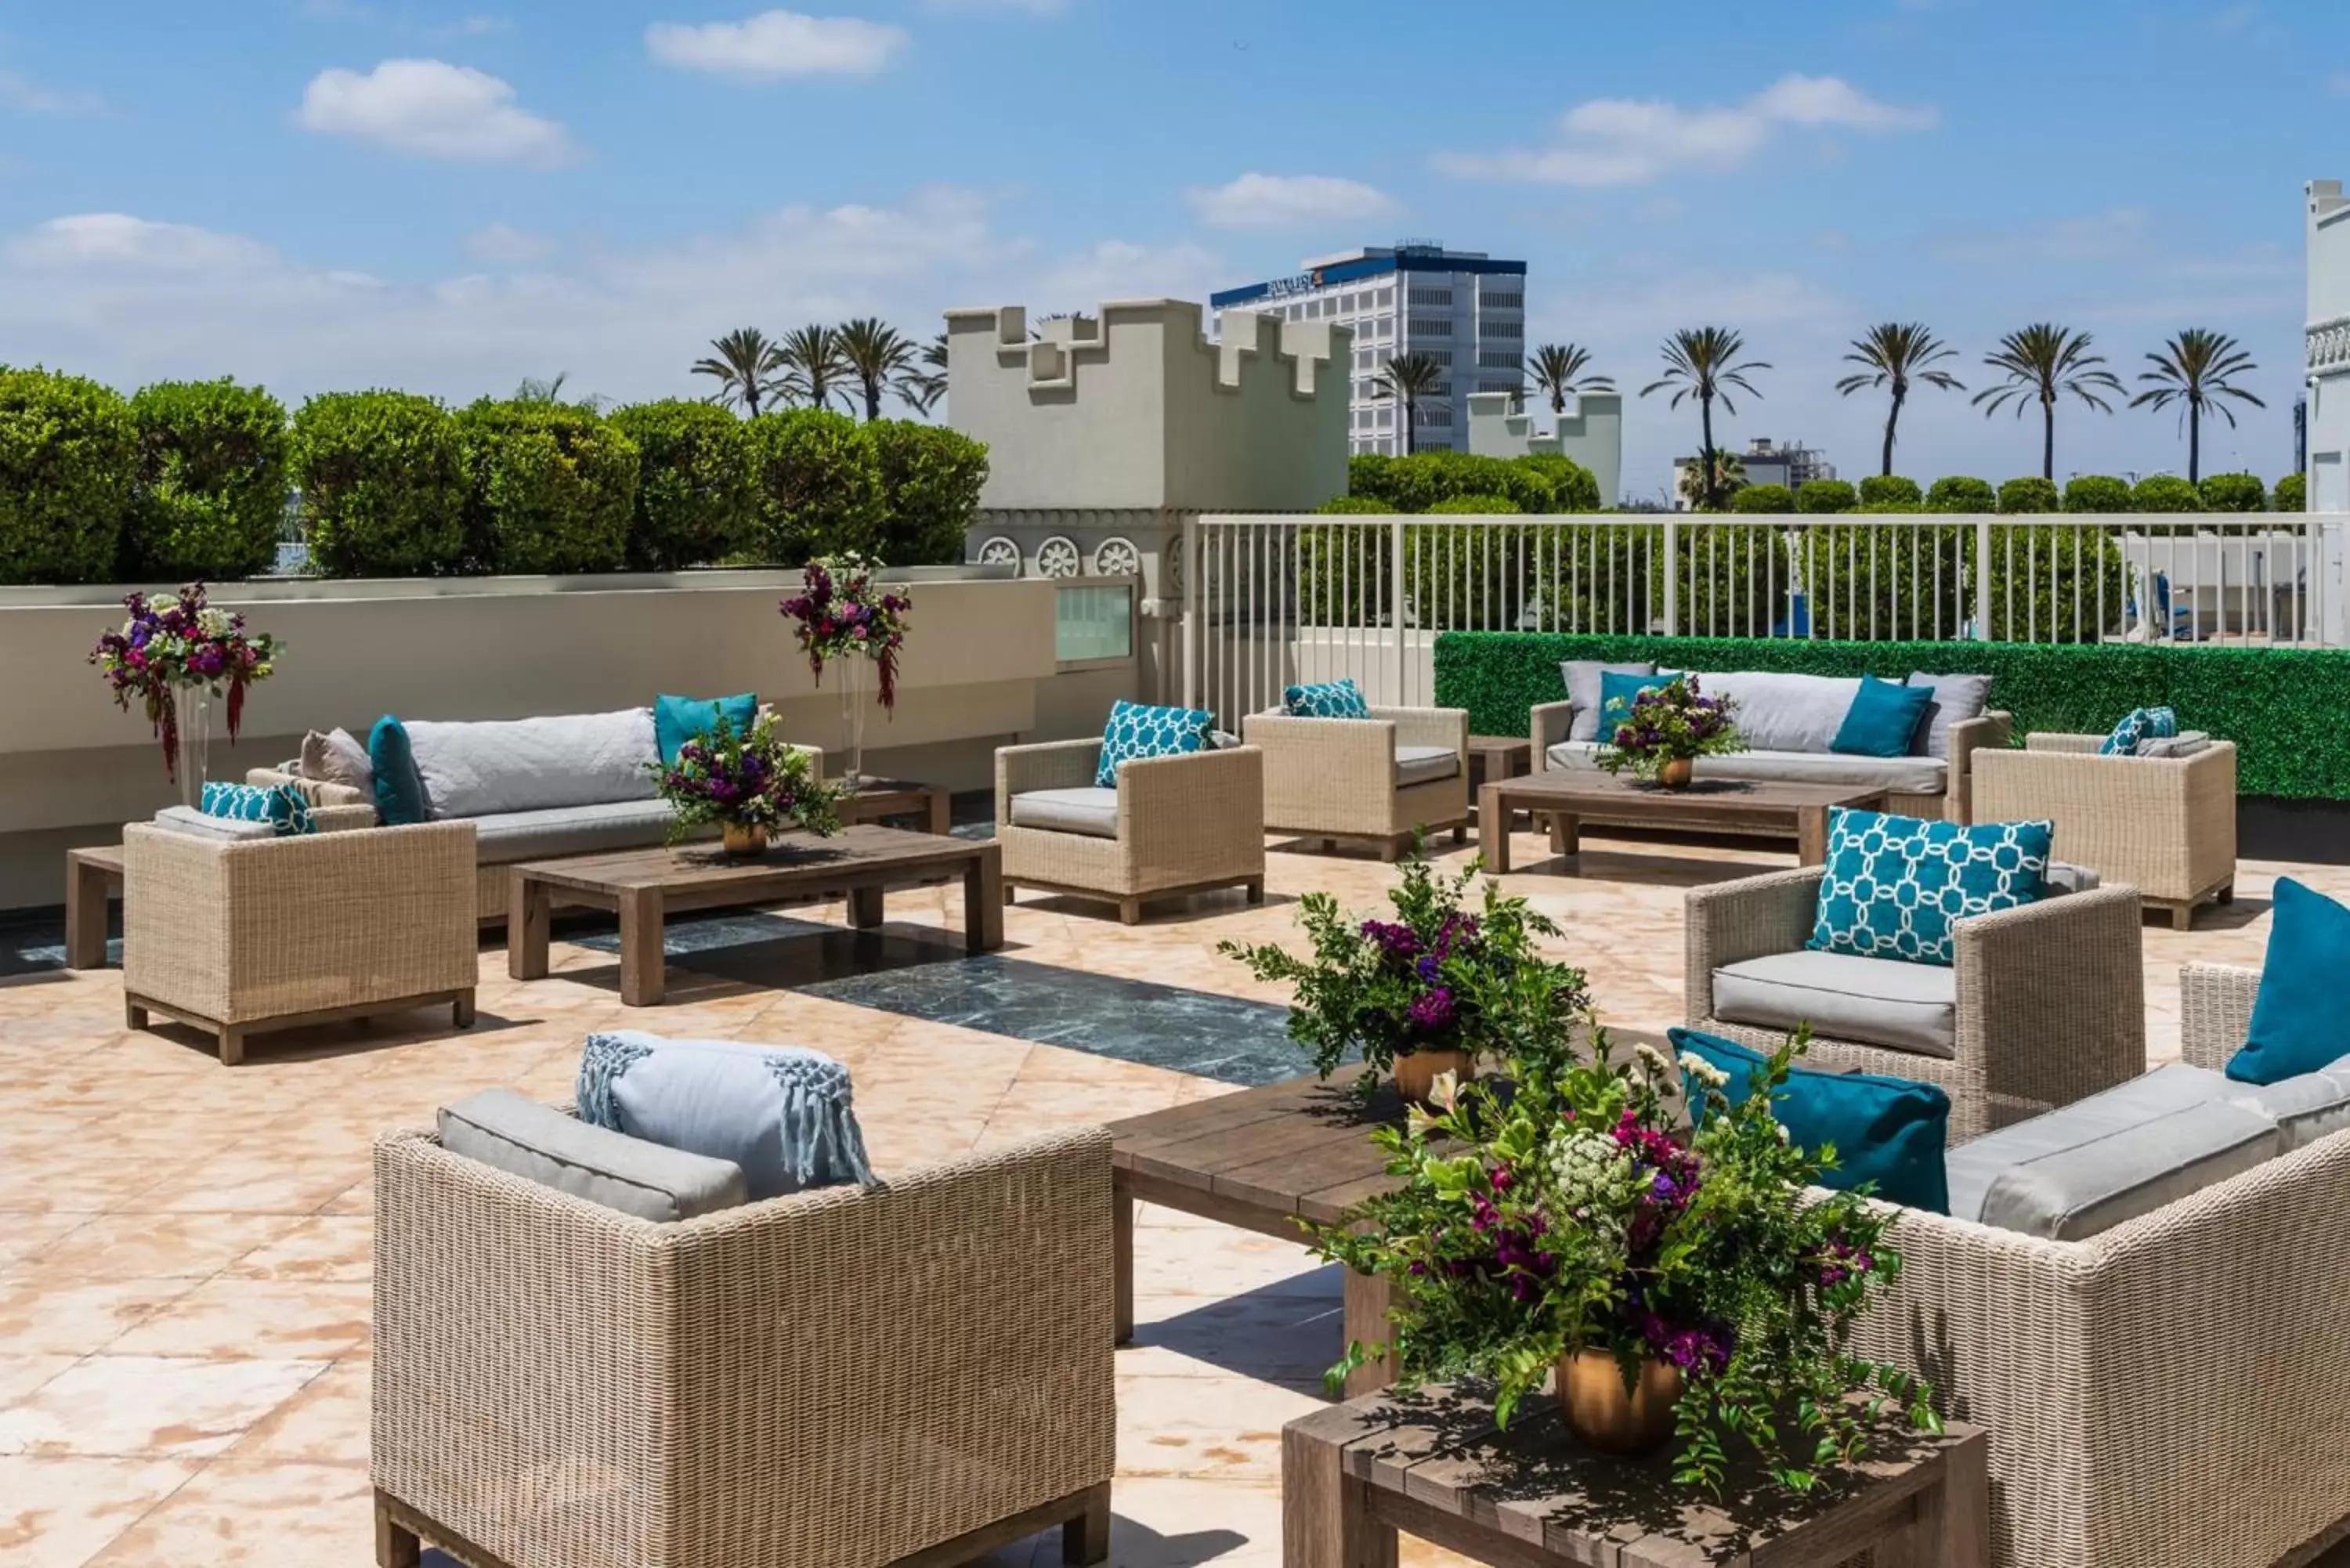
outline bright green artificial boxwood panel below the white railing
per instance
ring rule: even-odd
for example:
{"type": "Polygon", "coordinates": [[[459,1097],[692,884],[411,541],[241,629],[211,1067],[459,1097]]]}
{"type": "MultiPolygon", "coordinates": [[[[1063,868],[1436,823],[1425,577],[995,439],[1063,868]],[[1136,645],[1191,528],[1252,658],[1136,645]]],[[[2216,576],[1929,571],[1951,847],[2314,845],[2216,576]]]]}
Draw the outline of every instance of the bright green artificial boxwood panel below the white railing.
{"type": "Polygon", "coordinates": [[[1445,632],[1436,639],[1436,701],[1466,708],[1480,736],[1528,733],[1528,710],[1565,696],[1565,658],[1652,658],[1666,670],[1786,670],[1798,675],[1990,675],[1990,703],[2021,736],[2103,733],[2131,708],[2169,705],[2181,729],[2237,745],[2237,792],[2350,799],[2350,651],[2195,649],[2138,642],[1826,642],[1793,637],[1603,637],[1567,632],[1445,632]]]}

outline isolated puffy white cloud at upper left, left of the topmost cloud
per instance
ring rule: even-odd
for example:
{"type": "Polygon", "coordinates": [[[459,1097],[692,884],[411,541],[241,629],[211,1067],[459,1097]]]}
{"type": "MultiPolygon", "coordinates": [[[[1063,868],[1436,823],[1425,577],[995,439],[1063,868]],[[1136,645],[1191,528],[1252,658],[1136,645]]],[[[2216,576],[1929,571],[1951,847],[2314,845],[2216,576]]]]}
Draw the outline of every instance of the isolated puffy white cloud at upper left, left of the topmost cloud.
{"type": "Polygon", "coordinates": [[[313,132],[418,158],[533,167],[578,160],[571,134],[515,103],[508,82],[437,59],[388,59],[364,75],[320,71],[296,118],[313,132]]]}

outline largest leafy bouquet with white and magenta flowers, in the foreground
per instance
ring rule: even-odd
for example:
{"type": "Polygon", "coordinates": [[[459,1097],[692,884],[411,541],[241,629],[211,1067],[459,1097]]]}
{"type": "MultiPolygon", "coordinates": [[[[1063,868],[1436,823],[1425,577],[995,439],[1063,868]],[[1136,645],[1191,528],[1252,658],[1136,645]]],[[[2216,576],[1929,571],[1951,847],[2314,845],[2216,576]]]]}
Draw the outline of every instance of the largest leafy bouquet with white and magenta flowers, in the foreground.
{"type": "MultiPolygon", "coordinates": [[[[1744,1441],[1805,1490],[1887,1415],[1939,1429],[1922,1382],[1847,1354],[1901,1258],[1859,1192],[1805,1192],[1835,1154],[1793,1147],[1770,1112],[1805,1044],[1739,1105],[1704,1058],[1640,1044],[1619,1060],[1605,1030],[1577,1060],[1516,1063],[1509,1091],[1438,1084],[1436,1114],[1375,1133],[1403,1185],[1314,1246],[1389,1279],[1410,1382],[1490,1378],[1506,1425],[1563,1356],[1614,1356],[1626,1389],[1661,1361],[1680,1378],[1680,1481],[1718,1493],[1744,1441]],[[1673,1114],[1685,1093],[1694,1131],[1673,1114]]],[[[1354,1345],[1332,1378],[1379,1354],[1354,1345]]]]}

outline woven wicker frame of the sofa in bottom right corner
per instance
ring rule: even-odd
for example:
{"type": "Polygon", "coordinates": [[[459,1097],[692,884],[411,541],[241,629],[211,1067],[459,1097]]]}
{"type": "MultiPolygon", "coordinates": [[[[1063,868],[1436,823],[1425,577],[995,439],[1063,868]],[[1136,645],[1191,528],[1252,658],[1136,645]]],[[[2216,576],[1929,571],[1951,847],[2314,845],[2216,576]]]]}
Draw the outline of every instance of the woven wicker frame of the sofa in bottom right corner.
{"type": "MultiPolygon", "coordinates": [[[[2188,1063],[2228,1060],[2256,985],[2183,971],[2188,1063]]],[[[1854,1349],[1990,1429],[2002,1568],[2270,1568],[2343,1535],[2350,1133],[2087,1241],[1915,1211],[1892,1241],[1854,1349]]]]}

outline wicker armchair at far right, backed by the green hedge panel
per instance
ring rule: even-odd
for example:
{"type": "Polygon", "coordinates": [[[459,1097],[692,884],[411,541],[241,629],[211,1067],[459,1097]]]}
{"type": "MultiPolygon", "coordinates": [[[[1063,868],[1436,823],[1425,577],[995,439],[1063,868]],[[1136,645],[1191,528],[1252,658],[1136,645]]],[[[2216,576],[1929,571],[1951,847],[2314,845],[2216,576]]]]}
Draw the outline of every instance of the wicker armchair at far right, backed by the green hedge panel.
{"type": "Polygon", "coordinates": [[[1988,820],[2056,823],[2056,856],[2129,882],[2171,926],[2207,898],[2235,903],[2235,741],[2193,757],[2099,757],[2103,736],[2037,733],[1979,752],[1974,799],[1988,820]]]}

